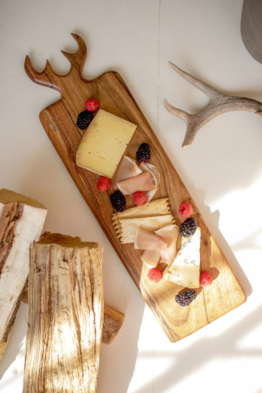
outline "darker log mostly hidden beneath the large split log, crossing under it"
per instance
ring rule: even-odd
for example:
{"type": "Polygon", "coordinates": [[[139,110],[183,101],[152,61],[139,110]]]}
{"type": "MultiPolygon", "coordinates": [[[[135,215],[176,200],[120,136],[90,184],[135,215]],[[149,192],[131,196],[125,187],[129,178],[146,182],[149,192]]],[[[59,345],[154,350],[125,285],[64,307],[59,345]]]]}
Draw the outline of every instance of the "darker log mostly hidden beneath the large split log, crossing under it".
{"type": "MultiPolygon", "coordinates": [[[[21,300],[25,303],[28,303],[28,285],[25,287],[21,300]]],[[[123,312],[104,305],[104,321],[102,332],[103,344],[111,344],[121,329],[124,319],[125,314],[123,312]]]]}

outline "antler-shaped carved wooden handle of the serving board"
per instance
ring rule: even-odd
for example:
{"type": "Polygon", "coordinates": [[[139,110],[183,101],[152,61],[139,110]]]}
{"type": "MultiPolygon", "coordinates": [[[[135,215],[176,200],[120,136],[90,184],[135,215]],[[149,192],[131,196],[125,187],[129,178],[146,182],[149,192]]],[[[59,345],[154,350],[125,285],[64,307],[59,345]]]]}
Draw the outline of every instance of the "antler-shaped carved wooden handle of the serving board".
{"type": "Polygon", "coordinates": [[[25,71],[29,78],[37,83],[43,84],[44,86],[51,87],[52,89],[58,90],[61,95],[66,89],[66,84],[70,83],[72,78],[82,78],[82,70],[87,57],[87,47],[85,42],[77,34],[71,33],[78,43],[78,50],[76,53],[70,54],[61,51],[62,54],[70,61],[71,69],[66,75],[58,75],[54,72],[51,67],[49,60],[46,62],[46,66],[42,72],[37,72],[32,66],[29,56],[26,56],[25,60],[25,71]]]}

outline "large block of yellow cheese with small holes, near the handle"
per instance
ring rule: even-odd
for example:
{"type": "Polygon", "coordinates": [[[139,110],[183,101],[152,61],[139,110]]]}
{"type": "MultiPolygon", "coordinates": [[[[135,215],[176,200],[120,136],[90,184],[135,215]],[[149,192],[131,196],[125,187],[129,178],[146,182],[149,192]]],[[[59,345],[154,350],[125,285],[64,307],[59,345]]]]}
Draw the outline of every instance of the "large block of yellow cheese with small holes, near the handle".
{"type": "Polygon", "coordinates": [[[136,128],[135,124],[100,109],[79,145],[77,165],[111,179],[136,128]]]}

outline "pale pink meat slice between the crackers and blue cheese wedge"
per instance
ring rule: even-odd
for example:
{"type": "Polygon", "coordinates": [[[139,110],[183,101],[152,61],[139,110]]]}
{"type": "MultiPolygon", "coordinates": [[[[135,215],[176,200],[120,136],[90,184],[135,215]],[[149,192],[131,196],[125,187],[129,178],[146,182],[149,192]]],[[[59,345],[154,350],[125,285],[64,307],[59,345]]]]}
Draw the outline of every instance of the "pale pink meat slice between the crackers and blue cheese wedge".
{"type": "Polygon", "coordinates": [[[155,231],[168,244],[166,250],[160,251],[160,256],[164,262],[170,262],[176,255],[176,242],[179,233],[179,227],[175,224],[163,226],[163,228],[155,231]]]}

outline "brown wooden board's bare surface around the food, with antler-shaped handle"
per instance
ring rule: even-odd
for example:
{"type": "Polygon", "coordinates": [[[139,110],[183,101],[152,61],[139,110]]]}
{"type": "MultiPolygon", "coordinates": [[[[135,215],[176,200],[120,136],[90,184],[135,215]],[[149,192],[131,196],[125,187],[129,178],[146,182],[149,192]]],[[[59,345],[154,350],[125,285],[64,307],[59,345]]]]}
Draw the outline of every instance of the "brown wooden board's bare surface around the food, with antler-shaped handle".
{"type": "MultiPolygon", "coordinates": [[[[72,35],[78,42],[79,48],[75,54],[62,52],[71,63],[71,70],[67,75],[55,74],[48,61],[44,71],[37,73],[29,57],[26,58],[25,70],[29,78],[37,84],[54,88],[61,94],[58,102],[40,112],[40,121],[147,305],[169,339],[177,341],[241,305],[246,301],[246,295],[120,75],[110,71],[94,80],[85,80],[82,69],[87,56],[86,45],[82,38],[72,35]],[[197,289],[198,296],[189,307],[180,307],[175,303],[175,295],[182,289],[181,286],[164,279],[157,284],[147,279],[148,268],[143,265],[140,258],[142,251],[134,250],[133,244],[120,244],[116,236],[112,224],[114,209],[109,198],[114,190],[98,192],[99,175],[76,166],[76,152],[85,132],[77,128],[77,116],[85,110],[85,101],[90,97],[99,101],[101,109],[137,124],[125,154],[135,158],[140,143],[150,144],[150,163],[159,169],[161,176],[160,187],[154,198],[169,197],[169,204],[177,225],[183,221],[178,215],[180,203],[189,201],[193,206],[193,217],[201,227],[201,269],[209,271],[214,281],[209,287],[197,289]]],[[[131,198],[126,199],[127,207],[132,206],[131,198]]]]}

